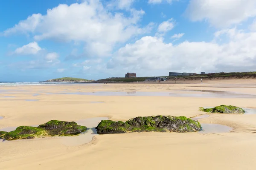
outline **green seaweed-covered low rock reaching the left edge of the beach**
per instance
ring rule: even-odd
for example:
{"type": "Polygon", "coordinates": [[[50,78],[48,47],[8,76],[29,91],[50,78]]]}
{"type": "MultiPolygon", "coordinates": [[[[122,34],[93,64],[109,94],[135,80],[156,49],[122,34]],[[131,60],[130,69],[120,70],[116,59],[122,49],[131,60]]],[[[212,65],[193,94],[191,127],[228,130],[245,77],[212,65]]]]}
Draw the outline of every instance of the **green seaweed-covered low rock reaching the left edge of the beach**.
{"type": "Polygon", "coordinates": [[[6,140],[33,139],[44,136],[72,136],[84,132],[85,126],[77,125],[76,122],[64,122],[51,120],[38,127],[20,126],[11,132],[0,132],[0,138],[6,140]],[[1,135],[2,134],[2,135],[1,135]]]}

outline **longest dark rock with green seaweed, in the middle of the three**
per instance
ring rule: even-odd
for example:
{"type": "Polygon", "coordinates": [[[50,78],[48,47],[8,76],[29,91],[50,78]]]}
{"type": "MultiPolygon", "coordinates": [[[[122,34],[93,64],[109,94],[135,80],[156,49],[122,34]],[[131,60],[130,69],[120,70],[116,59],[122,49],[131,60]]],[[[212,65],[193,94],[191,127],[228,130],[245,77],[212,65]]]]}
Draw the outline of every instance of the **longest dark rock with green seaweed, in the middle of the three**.
{"type": "Polygon", "coordinates": [[[102,120],[96,127],[98,134],[127,132],[195,132],[201,130],[198,121],[185,116],[146,116],[135,117],[126,122],[102,120]]]}

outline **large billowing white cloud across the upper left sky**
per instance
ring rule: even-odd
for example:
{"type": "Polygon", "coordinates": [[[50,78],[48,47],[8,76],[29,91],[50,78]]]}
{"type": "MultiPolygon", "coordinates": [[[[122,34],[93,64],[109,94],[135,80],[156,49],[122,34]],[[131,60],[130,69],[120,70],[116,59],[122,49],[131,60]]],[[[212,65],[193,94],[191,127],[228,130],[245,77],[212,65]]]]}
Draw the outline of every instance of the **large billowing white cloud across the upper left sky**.
{"type": "MultiPolygon", "coordinates": [[[[120,8],[126,8],[133,0],[116,2],[120,8]]],[[[32,14],[3,33],[6,36],[14,33],[32,34],[37,41],[85,42],[89,45],[85,49],[90,48],[91,44],[101,46],[101,51],[92,48],[90,52],[102,55],[111,51],[117,42],[126,42],[137,34],[151,30],[150,26],[141,28],[137,24],[145,13],[143,10],[130,9],[129,13],[111,12],[99,0],[84,0],[70,6],[60,4],[48,9],[45,15],[32,14]]]]}

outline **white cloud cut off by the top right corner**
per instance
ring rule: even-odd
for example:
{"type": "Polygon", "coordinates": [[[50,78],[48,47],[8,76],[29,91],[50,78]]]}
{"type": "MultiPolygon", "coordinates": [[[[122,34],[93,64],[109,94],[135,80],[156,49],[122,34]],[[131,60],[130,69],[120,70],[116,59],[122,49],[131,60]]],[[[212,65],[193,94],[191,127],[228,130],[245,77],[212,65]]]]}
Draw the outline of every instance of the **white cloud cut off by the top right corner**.
{"type": "Polygon", "coordinates": [[[224,28],[255,17],[256,0],[190,0],[186,14],[192,21],[224,28]]]}

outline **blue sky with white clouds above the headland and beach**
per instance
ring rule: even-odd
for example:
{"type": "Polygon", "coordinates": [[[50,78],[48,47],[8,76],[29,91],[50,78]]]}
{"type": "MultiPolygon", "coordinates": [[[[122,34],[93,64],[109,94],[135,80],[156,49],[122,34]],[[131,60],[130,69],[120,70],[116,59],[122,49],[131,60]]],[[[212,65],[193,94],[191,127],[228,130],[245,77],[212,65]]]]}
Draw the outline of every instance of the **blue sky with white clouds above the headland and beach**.
{"type": "Polygon", "coordinates": [[[5,0],[0,82],[255,71],[256,0],[5,0]]]}

